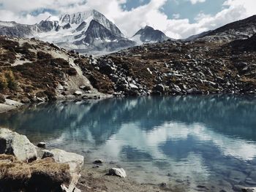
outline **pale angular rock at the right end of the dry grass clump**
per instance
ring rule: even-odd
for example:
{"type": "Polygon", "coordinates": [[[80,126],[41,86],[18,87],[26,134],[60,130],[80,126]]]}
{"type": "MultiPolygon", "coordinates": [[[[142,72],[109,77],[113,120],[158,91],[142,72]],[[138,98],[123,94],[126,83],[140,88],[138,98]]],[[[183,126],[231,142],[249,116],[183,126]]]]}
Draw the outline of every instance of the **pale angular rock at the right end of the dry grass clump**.
{"type": "Polygon", "coordinates": [[[69,153],[64,150],[54,149],[50,151],[53,153],[53,158],[56,162],[61,164],[69,164],[70,174],[72,177],[71,183],[68,187],[62,186],[65,191],[73,191],[75,185],[80,178],[80,171],[83,167],[83,156],[76,153],[69,153]]]}

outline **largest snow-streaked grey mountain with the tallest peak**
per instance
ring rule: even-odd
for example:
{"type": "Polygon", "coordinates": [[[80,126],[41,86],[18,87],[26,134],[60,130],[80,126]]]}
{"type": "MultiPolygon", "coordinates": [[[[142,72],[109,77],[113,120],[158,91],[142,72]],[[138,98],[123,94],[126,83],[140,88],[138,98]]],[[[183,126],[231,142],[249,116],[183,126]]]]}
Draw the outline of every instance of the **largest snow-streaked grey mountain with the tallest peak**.
{"type": "Polygon", "coordinates": [[[34,25],[0,22],[0,34],[10,37],[35,37],[81,53],[112,52],[132,47],[135,42],[100,12],[91,10],[48,18],[34,25]]]}

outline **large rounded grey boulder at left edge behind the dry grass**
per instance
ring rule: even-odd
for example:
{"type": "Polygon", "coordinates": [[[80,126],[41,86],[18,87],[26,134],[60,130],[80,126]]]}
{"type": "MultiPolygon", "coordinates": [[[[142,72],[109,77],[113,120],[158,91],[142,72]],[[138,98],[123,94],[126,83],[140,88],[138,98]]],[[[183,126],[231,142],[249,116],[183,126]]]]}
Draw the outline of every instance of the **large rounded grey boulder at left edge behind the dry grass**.
{"type": "Polygon", "coordinates": [[[21,134],[0,128],[0,154],[15,155],[19,161],[34,161],[37,159],[36,147],[21,134]]]}

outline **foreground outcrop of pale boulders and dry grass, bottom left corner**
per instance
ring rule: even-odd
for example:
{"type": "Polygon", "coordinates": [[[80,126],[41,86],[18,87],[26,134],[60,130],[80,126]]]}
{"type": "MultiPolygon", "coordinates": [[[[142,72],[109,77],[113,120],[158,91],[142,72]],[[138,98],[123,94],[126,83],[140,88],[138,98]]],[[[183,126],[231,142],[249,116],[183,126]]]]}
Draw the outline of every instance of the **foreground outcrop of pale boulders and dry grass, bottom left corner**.
{"type": "Polygon", "coordinates": [[[83,156],[59,149],[42,153],[37,160],[36,147],[26,136],[0,128],[0,192],[79,191],[75,186],[83,156]]]}

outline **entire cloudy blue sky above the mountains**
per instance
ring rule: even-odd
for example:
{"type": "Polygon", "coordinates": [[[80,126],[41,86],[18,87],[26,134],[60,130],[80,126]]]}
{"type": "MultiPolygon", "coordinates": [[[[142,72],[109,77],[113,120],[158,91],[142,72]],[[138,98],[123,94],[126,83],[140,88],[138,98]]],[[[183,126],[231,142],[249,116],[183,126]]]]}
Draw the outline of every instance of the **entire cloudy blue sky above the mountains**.
{"type": "Polygon", "coordinates": [[[34,24],[96,9],[132,37],[148,25],[187,38],[256,15],[256,0],[0,0],[0,20],[34,24]]]}

